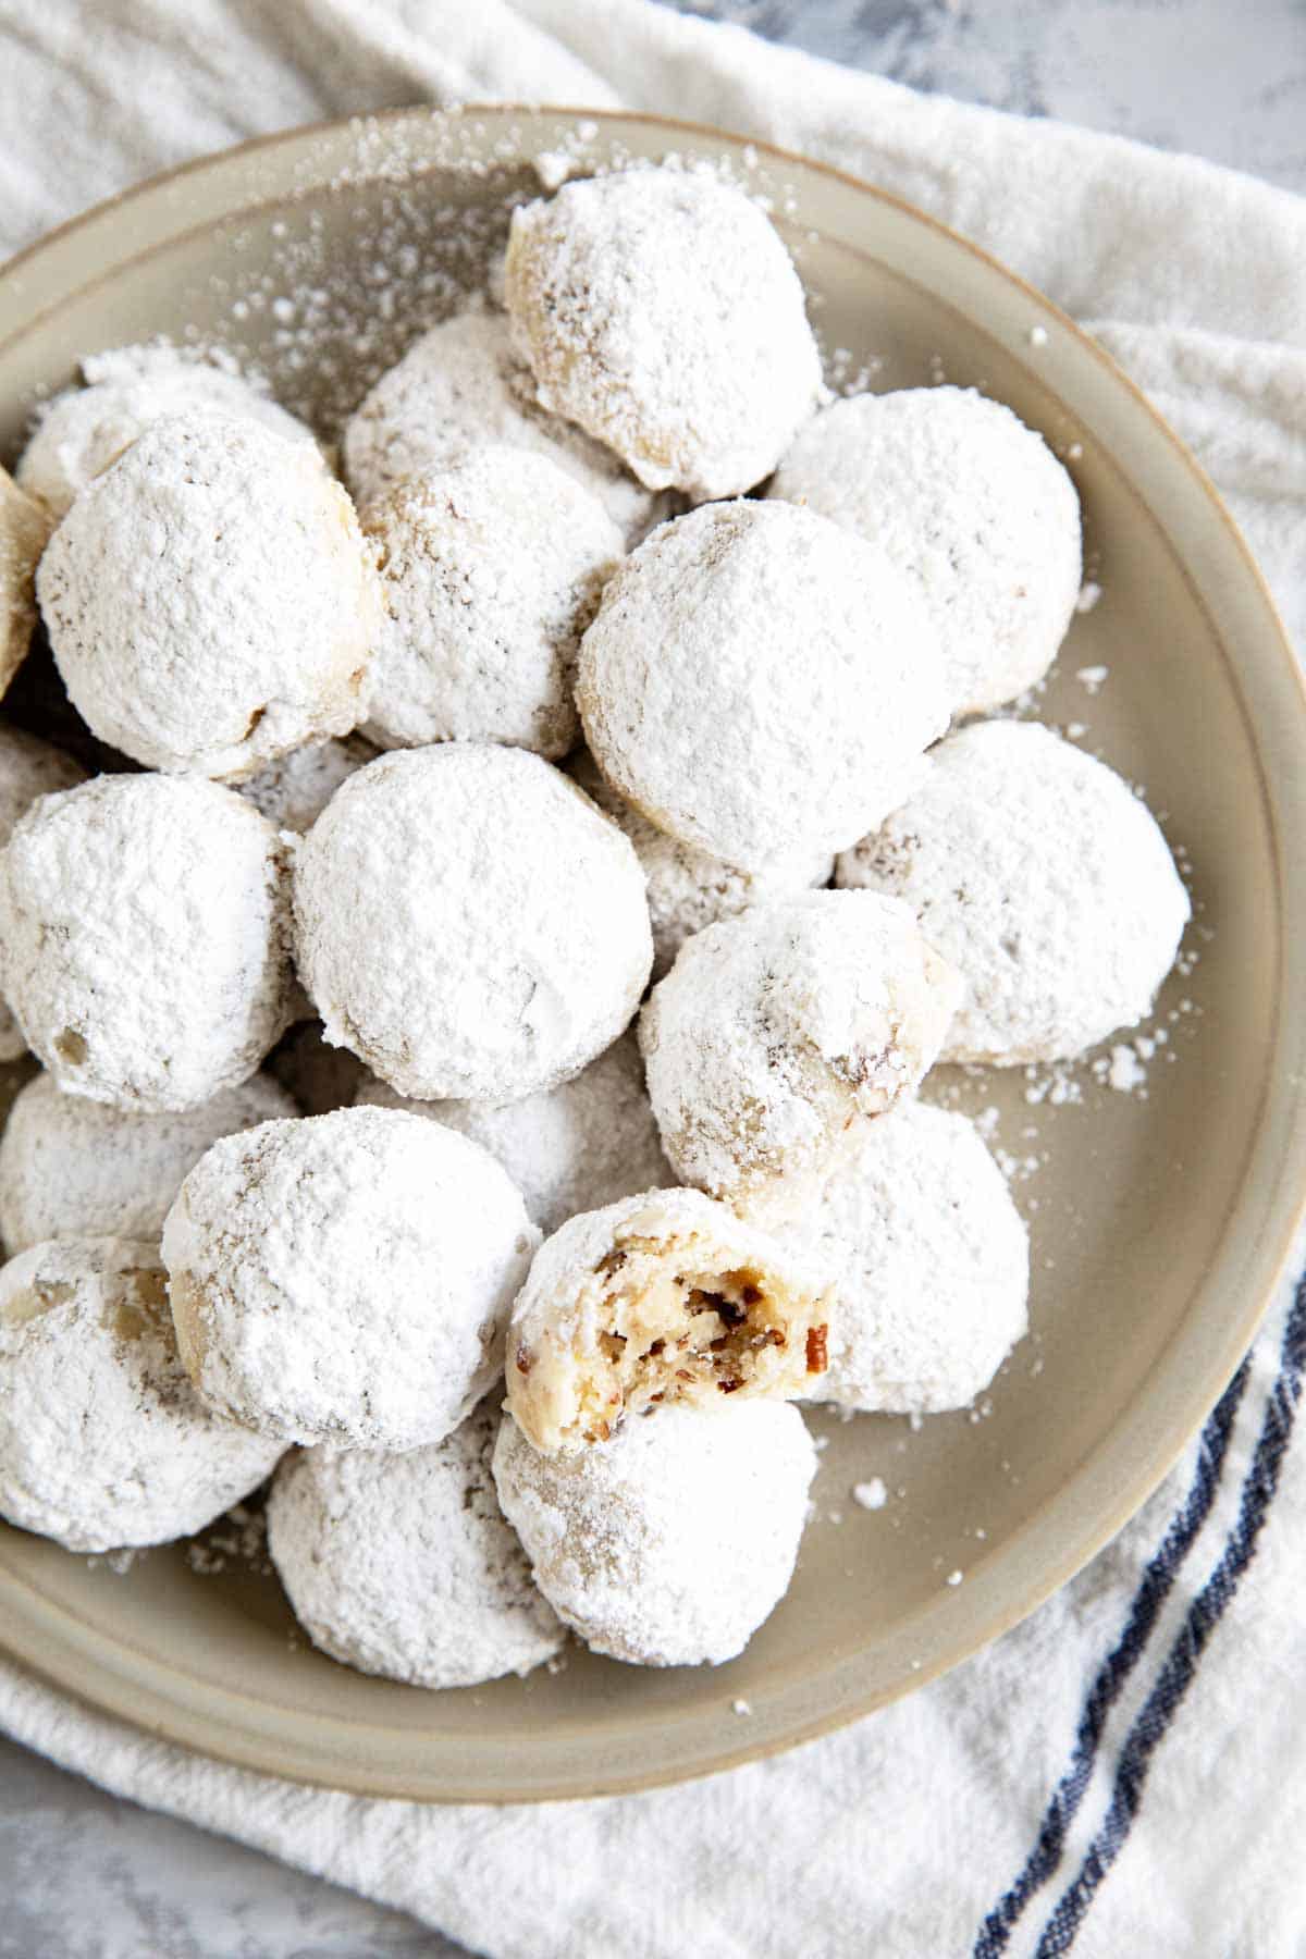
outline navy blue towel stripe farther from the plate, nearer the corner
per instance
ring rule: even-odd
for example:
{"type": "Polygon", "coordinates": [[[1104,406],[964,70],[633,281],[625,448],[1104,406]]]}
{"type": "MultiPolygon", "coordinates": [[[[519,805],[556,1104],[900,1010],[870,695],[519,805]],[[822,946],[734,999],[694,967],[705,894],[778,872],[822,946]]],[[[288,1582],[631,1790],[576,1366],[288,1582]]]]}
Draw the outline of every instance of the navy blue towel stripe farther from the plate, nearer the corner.
{"type": "Polygon", "coordinates": [[[1055,1959],[1075,1941],[1093,1896],[1124,1849],[1130,1824],[1143,1796],[1143,1783],[1173,1714],[1192,1685],[1198,1661],[1220,1624],[1224,1608],[1234,1599],[1243,1571],[1255,1557],[1261,1528],[1279,1489],[1279,1473],[1292,1436],[1296,1407],[1306,1371],[1306,1277],[1296,1287],[1296,1299],[1283,1336],[1279,1379],[1265,1401],[1265,1420],[1257,1438],[1251,1469],[1241,1489],[1237,1522],[1230,1530],[1220,1563],[1189,1606],[1185,1624],[1175,1638],[1165,1665],[1151,1689],[1130,1736],[1120,1749],[1110,1808],[1102,1828],[1085,1851],[1075,1883],[1061,1894],[1038,1941],[1036,1959],[1055,1959]]]}

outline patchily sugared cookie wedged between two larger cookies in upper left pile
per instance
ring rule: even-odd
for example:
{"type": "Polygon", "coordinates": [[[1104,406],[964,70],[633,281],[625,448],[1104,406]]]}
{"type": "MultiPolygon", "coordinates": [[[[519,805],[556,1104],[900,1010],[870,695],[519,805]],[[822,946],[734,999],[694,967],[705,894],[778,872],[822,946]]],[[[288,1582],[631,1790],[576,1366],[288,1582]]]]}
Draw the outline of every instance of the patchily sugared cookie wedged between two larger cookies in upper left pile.
{"type": "Polygon", "coordinates": [[[382,582],[368,735],[384,748],[576,746],[576,648],[621,531],[546,456],[478,449],[364,511],[382,582]]]}

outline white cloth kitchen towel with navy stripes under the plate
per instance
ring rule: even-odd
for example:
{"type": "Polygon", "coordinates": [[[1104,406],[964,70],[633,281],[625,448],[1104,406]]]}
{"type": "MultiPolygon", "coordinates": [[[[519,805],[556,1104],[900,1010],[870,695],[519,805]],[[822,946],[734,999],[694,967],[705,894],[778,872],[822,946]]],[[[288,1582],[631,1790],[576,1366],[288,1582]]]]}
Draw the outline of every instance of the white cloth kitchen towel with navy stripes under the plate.
{"type": "MultiPolygon", "coordinates": [[[[922,98],[644,0],[0,0],[0,245],[321,116],[668,110],[828,159],[1095,325],[1196,449],[1306,643],[1306,204],[922,98]]],[[[1306,1951],[1306,1295],[1200,1440],[1024,1626],[832,1740],[707,1783],[417,1808],[217,1767],[0,1667],[0,1722],[108,1789],[491,1959],[1306,1951]]]]}

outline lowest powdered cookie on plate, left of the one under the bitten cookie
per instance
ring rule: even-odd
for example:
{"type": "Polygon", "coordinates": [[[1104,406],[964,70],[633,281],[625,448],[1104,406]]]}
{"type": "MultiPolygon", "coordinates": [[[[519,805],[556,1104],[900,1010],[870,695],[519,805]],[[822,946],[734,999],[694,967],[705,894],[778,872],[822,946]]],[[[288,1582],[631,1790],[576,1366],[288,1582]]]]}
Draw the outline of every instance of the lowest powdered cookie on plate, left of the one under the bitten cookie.
{"type": "Polygon", "coordinates": [[[313,1646],[409,1687],[531,1673],[566,1632],[499,1510],[482,1403],[433,1448],[305,1450],[268,1499],[268,1550],[313,1646]]]}

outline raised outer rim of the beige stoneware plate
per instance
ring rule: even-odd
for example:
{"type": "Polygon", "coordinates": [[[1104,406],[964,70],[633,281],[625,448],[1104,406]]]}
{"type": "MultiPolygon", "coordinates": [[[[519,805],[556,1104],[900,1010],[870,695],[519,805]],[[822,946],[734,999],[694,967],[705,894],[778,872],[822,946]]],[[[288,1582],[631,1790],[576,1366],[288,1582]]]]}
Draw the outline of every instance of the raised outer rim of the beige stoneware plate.
{"type": "MultiPolygon", "coordinates": [[[[805,157],[797,151],[789,151],[781,145],[768,143],[760,137],[750,137],[724,127],[715,127],[709,123],[687,121],[670,116],[636,114],[625,110],[597,110],[597,108],[574,108],[566,104],[513,104],[513,102],[466,102],[456,108],[433,108],[431,104],[413,104],[407,108],[382,110],[366,118],[327,118],[313,123],[296,125],[292,129],[274,131],[268,135],[251,137],[243,143],[231,145],[227,149],[208,153],[204,157],[188,159],[170,170],[159,172],[139,184],[131,184],[121,192],[90,206],[88,210],[76,214],[65,223],[43,233],[39,239],[31,241],[20,249],[12,259],[0,266],[0,321],[4,313],[12,308],[12,321],[0,323],[0,353],[18,337],[29,333],[53,308],[61,304],[59,298],[37,306],[35,311],[23,308],[22,304],[22,284],[35,263],[49,255],[51,249],[61,253],[69,245],[76,245],[84,233],[94,231],[110,219],[116,219],[123,210],[131,208],[143,200],[166,200],[168,194],[192,178],[204,178],[206,174],[221,174],[223,168],[249,163],[251,157],[288,149],[298,143],[311,145],[313,139],[333,139],[349,137],[358,129],[376,129],[388,123],[419,121],[419,123],[448,123],[456,125],[468,119],[490,119],[507,121],[515,119],[519,123],[540,125],[544,119],[560,121],[566,125],[576,125],[580,121],[603,125],[640,125],[642,129],[668,131],[676,135],[681,143],[685,141],[707,141],[711,145],[726,147],[750,147],[760,157],[781,165],[793,167],[803,172],[815,172],[824,178],[832,178],[838,184],[848,186],[858,196],[869,196],[881,206],[889,206],[903,217],[926,225],[934,231],[948,249],[961,247],[963,253],[979,261],[991,274],[997,274],[1003,282],[1024,296],[1034,308],[1036,315],[1053,321],[1059,331],[1063,331],[1081,351],[1093,355],[1098,366],[1110,378],[1110,384],[1124,388],[1132,398],[1136,409],[1142,409],[1159,433],[1169,449],[1173,451],[1177,462],[1187,474],[1189,482],[1198,488],[1208,503],[1208,515],[1214,519],[1218,531],[1222,533],[1226,547],[1232,547],[1237,554],[1239,570],[1245,580],[1243,599],[1251,601],[1261,613],[1261,633],[1259,648],[1253,662],[1253,670],[1261,678],[1277,680],[1279,686],[1286,682],[1286,692],[1292,697],[1292,715],[1296,733],[1283,735],[1275,744],[1284,756],[1288,748],[1296,748],[1298,756],[1306,754],[1306,676],[1292,650],[1286,629],[1279,617],[1275,599],[1269,592],[1265,576],[1243,539],[1236,519],[1228,511],[1220,492],[1214,488],[1206,476],[1200,462],[1192,456],[1183,439],[1171,429],[1165,417],[1153,407],[1147,396],[1138,388],[1138,384],[1120,368],[1120,364],[1106,353],[1106,349],[1095,341],[1077,321],[1065,313],[1055,302],[1032,286],[1026,278],[1006,266],[985,247],[977,245],[973,239],[959,231],[954,231],[942,219],[924,212],[920,206],[899,196],[897,192],[885,190],[873,180],[862,178],[856,172],[844,170],[838,165],[822,163],[815,157],[805,157]],[[16,288],[20,296],[14,298],[16,288]],[[1277,674],[1269,674],[1269,646],[1275,646],[1277,674]]],[[[503,157],[505,167],[531,161],[531,149],[521,147],[517,155],[503,157]]],[[[415,170],[413,178],[444,168],[443,161],[423,161],[415,170]]],[[[452,167],[452,165],[448,165],[452,167]]],[[[366,168],[362,170],[366,176],[366,168]]],[[[372,172],[376,174],[376,172],[372,172]]],[[[305,186],[311,190],[325,188],[323,184],[305,186]]],[[[253,192],[241,200],[227,215],[255,215],[258,210],[270,204],[284,204],[294,196],[294,188],[282,186],[270,198],[258,198],[253,192]]],[[[76,278],[65,288],[63,298],[72,294],[82,294],[94,288],[98,282],[114,278],[127,264],[141,263],[153,257],[157,251],[170,249],[192,231],[208,231],[215,223],[223,221],[223,214],[211,214],[198,223],[178,223],[164,237],[155,239],[141,251],[123,253],[121,245],[110,249],[102,255],[102,263],[96,263],[88,276],[76,278]]],[[[952,302],[942,302],[952,304],[952,302]]],[[[1026,362],[1028,364],[1028,362],[1026,362]]],[[[1055,394],[1055,384],[1051,378],[1044,378],[1049,392],[1055,394]]],[[[1149,505],[1147,505],[1149,507],[1149,505]]],[[[1157,519],[1159,521],[1159,519],[1157,519]]],[[[1189,564],[1177,545],[1171,543],[1177,564],[1183,568],[1185,576],[1192,584],[1194,599],[1204,611],[1210,611],[1202,590],[1192,582],[1189,564]]],[[[1247,713],[1247,703],[1243,697],[1243,670],[1236,666],[1230,656],[1232,650],[1226,645],[1226,633],[1216,629],[1212,619],[1212,637],[1220,643],[1230,668],[1230,678],[1239,693],[1243,711],[1247,713]]],[[[1281,1077],[1283,1068],[1283,1048],[1288,1034],[1294,1032],[1296,1046],[1306,1056],[1306,995],[1302,995],[1302,1005],[1292,1005],[1292,995],[1288,991],[1288,964],[1294,948],[1300,956],[1302,927],[1298,915],[1290,903],[1288,878],[1292,874],[1292,848],[1288,838],[1288,823],[1283,809],[1284,784],[1277,780],[1277,772],[1267,772],[1267,754],[1263,742],[1263,729],[1255,727],[1255,739],[1251,748],[1255,754],[1257,770],[1261,774],[1265,813],[1273,848],[1273,884],[1275,884],[1275,903],[1279,911],[1279,931],[1281,931],[1281,958],[1275,981],[1275,1027],[1269,1044],[1271,1058],[1279,1064],[1267,1072],[1267,1087],[1263,1097],[1263,1107],[1257,1113],[1255,1130],[1251,1134],[1247,1164],[1243,1168],[1243,1181],[1237,1187],[1236,1201],[1230,1209],[1226,1220],[1226,1236],[1220,1240],[1224,1248],[1239,1211],[1245,1205],[1249,1170],[1253,1160],[1265,1146],[1265,1130],[1269,1123],[1269,1105],[1275,1095],[1284,1093],[1284,1081],[1281,1077]]],[[[1283,774],[1283,772],[1279,772],[1283,774]]],[[[1306,793],[1298,793],[1298,803],[1306,809],[1306,793]]],[[[1298,1079],[1296,1087],[1290,1089],[1288,1099],[1298,1117],[1306,1113],[1306,1081],[1298,1079]]],[[[35,1589],[27,1579],[18,1577],[4,1561],[4,1550],[0,1544],[0,1604],[14,1606],[23,1604],[29,1614],[35,1612],[35,1620],[41,1628],[41,1638],[47,1642],[37,1651],[33,1651],[33,1642],[23,1644],[12,1636],[10,1612],[0,1612],[0,1648],[16,1657],[23,1667],[31,1669],[39,1679],[57,1687],[61,1693],[69,1693],[84,1704],[96,1708],[102,1714],[116,1716],[129,1722],[131,1726],[166,1742],[180,1744],[198,1753],[210,1755],[219,1761],[227,1761],[233,1767],[253,1769],[278,1777],[282,1781],[305,1783],[323,1789],[341,1789],[354,1794],[370,1796],[401,1796],[407,1800],[421,1802],[486,1802],[486,1804],[517,1804],[535,1800],[558,1800],[576,1796],[607,1796],[621,1792],[634,1792],[640,1789],[666,1787],[681,1781],[691,1781],[703,1775],[719,1773],[730,1767],[738,1767],[746,1761],[758,1761],[768,1755],[775,1755],[783,1749],[795,1747],[799,1744],[816,1740],[822,1734],[830,1734],[838,1728],[848,1726],[854,1720],[862,1720],[865,1714],[879,1706],[887,1706],[893,1700],[914,1693],[918,1687],[928,1685],[928,1681],[938,1679],[942,1673],[959,1665],[963,1659],[985,1649],[993,1640],[1001,1638],[1040,1604],[1046,1602],[1055,1591],[1061,1589],[1083,1565],[1087,1565],[1116,1534],[1124,1524],[1142,1508],[1147,1497],[1159,1487],[1169,1469],[1181,1457],[1189,1440],[1196,1434],[1204,1422],[1208,1410],[1218,1401],[1220,1393],[1232,1379],[1239,1365],[1243,1352],[1251,1346],[1271,1303],[1275,1301],[1284,1277],[1288,1275],[1288,1262],[1292,1248],[1306,1222],[1306,1124],[1296,1121],[1288,1126],[1288,1150],[1281,1164],[1281,1173],[1275,1179],[1275,1189],[1267,1199],[1271,1220],[1275,1222],[1275,1236],[1269,1248],[1255,1248],[1255,1285],[1249,1287],[1247,1299],[1237,1314],[1232,1314],[1224,1324],[1224,1342],[1220,1346],[1218,1358],[1212,1358],[1202,1373],[1200,1391],[1190,1391],[1185,1401],[1185,1414],[1175,1420],[1173,1412],[1163,1426],[1163,1438],[1153,1444],[1147,1465],[1142,1473],[1130,1481],[1128,1491],[1118,1493],[1114,1506],[1110,1506],[1098,1524],[1081,1534],[1069,1548],[1063,1548],[1059,1557],[1046,1559],[1040,1567],[1040,1577],[1032,1587],[1018,1589],[1016,1597],[1008,1597],[1004,1604],[995,1606],[979,1624],[969,1638],[952,1646],[944,1642],[944,1649],[924,1661],[918,1671],[905,1679],[899,1679],[889,1689],[869,1689],[862,1696],[856,1693],[838,1695],[830,1691],[826,1696],[832,1706],[824,1712],[811,1714],[809,1718],[791,1718],[783,1724],[781,1732],[768,1734],[764,1738],[750,1740],[744,1732],[752,1724],[736,1722],[740,1730],[736,1745],[713,1745],[703,1759],[685,1765],[683,1761],[672,1761],[662,1765],[644,1763],[640,1767],[617,1767],[613,1765],[607,1773],[585,1773],[582,1781],[574,1775],[560,1773],[560,1779],[550,1783],[542,1779],[533,1783],[529,1789],[503,1789],[501,1781],[491,1785],[482,1785],[474,1773],[462,1775],[456,1787],[446,1785],[446,1777],[437,1787],[431,1775],[421,1773],[415,1767],[386,1769],[364,1763],[358,1757],[345,1759],[341,1749],[335,1753],[327,1749],[323,1755],[323,1745],[296,1745],[294,1736],[268,1736],[266,1720],[264,1730],[255,1732],[249,1724],[241,1724],[233,1718],[231,1710],[225,1708],[227,1702],[239,1702],[239,1696],[227,1693],[225,1689],[213,1689],[200,1683],[200,1698],[210,1696],[215,1704],[221,1704],[210,1712],[196,1710],[196,1681],[188,1677],[182,1669],[170,1667],[153,1655],[141,1665],[141,1673],[153,1679],[149,1681],[131,1679],[129,1663],[131,1649],[123,1642],[108,1642],[104,1634],[98,1634],[96,1626],[70,1612],[57,1601],[47,1599],[39,1589],[35,1589]],[[1196,1412],[1194,1412],[1196,1410],[1196,1412]],[[119,1665],[108,1663],[104,1651],[92,1653],[96,1642],[104,1648],[106,1644],[119,1655],[119,1665]],[[180,1681],[182,1689],[174,1693],[164,1693],[161,1677],[168,1681],[180,1681]],[[190,1696],[184,1689],[190,1689],[190,1696]]],[[[1187,1322],[1185,1322],[1187,1324],[1187,1322]]],[[[1055,1497],[1048,1499],[1044,1510],[1036,1512],[1016,1536],[1028,1534],[1036,1528],[1046,1508],[1059,1503],[1065,1489],[1071,1487],[1079,1477],[1085,1475],[1087,1467],[1093,1463],[1095,1456],[1102,1454],[1110,1440],[1118,1434],[1120,1426],[1136,1405],[1145,1397],[1149,1381],[1159,1367],[1165,1365],[1171,1356],[1171,1346],[1167,1346],[1153,1367],[1136,1383],[1126,1409],[1122,1410],[1118,1422],[1112,1426],[1108,1436],[1081,1461],[1067,1485],[1057,1491],[1055,1497]]],[[[979,1589],[979,1587],[975,1587],[979,1589]]],[[[916,1618],[928,1614],[916,1614],[916,1618]]],[[[826,1679],[834,1681],[838,1675],[852,1671],[856,1673],[856,1657],[852,1661],[842,1661],[834,1669],[826,1669],[826,1679]]],[[[249,1704],[249,1702],[245,1702],[249,1704]]],[[[260,1710],[272,1708],[274,1714],[284,1716],[290,1728],[313,1730],[327,1726],[321,1718],[315,1718],[302,1710],[274,1708],[272,1702],[257,1702],[260,1710]]],[[[689,1716],[681,1714],[683,1724],[689,1716]]],[[[335,1720],[345,1728],[366,1728],[366,1722],[358,1722],[349,1716],[335,1716],[335,1720]]],[[[378,1724],[370,1724],[374,1730],[378,1724]]]]}

